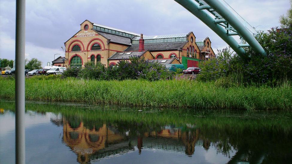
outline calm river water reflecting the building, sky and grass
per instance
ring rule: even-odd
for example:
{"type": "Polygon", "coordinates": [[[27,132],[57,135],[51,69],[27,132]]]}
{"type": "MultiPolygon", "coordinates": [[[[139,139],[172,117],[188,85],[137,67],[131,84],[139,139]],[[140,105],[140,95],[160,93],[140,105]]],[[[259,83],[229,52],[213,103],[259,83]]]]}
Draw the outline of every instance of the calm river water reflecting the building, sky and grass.
{"type": "MultiPolygon", "coordinates": [[[[15,163],[15,104],[0,102],[0,163],[15,163]]],[[[26,163],[291,163],[291,112],[29,102],[26,163]]]]}

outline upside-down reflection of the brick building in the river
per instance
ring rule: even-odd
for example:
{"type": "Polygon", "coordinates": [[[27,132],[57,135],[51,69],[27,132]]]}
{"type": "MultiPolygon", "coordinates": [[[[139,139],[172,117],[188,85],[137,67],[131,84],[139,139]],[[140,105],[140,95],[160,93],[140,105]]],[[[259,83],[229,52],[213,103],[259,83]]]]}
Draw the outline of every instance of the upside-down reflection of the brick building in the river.
{"type": "MultiPolygon", "coordinates": [[[[123,128],[123,125],[110,123],[97,123],[88,127],[82,121],[67,121],[63,118],[63,142],[77,154],[79,163],[87,163],[93,159],[134,151],[135,146],[139,154],[143,148],[158,148],[182,151],[191,156],[200,134],[199,129],[171,126],[155,130],[123,128]]],[[[203,147],[208,150],[209,140],[202,141],[203,147]]]]}

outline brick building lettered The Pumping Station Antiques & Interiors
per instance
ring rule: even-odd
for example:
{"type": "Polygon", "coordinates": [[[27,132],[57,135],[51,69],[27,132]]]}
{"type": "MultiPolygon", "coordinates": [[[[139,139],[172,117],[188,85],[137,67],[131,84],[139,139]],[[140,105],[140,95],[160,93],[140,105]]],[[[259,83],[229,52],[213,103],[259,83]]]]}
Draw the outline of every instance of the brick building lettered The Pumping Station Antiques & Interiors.
{"type": "Polygon", "coordinates": [[[196,67],[200,60],[215,58],[210,39],[196,39],[193,32],[143,36],[88,20],[81,23],[80,30],[64,44],[65,67],[84,67],[88,61],[101,62],[108,67],[116,65],[119,60],[128,60],[131,56],[144,57],[163,65],[196,67]]]}

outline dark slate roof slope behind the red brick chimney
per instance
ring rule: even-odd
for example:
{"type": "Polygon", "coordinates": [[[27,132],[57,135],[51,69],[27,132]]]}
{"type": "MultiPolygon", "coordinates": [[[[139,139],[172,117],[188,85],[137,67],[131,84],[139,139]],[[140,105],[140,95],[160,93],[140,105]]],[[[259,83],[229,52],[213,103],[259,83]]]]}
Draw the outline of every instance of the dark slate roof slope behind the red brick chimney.
{"type": "MultiPolygon", "coordinates": [[[[173,43],[153,43],[153,44],[144,44],[145,51],[157,51],[157,50],[177,50],[182,48],[186,42],[173,42],[173,43]]],[[[139,45],[132,45],[128,47],[125,51],[138,51],[139,45]]]]}

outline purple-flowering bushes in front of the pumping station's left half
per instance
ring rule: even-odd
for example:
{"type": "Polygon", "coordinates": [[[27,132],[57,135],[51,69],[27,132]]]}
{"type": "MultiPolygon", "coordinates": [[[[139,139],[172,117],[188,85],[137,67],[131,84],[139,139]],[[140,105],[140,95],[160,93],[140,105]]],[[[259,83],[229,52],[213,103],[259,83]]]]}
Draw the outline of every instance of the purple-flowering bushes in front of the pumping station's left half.
{"type": "Polygon", "coordinates": [[[63,77],[78,77],[82,79],[96,80],[126,80],[126,79],[146,79],[156,81],[160,79],[171,79],[173,73],[160,63],[151,63],[144,58],[133,56],[128,60],[120,60],[117,65],[105,68],[101,63],[92,65],[91,62],[85,64],[85,68],[78,71],[76,68],[67,69],[63,77]],[[73,71],[74,70],[74,71],[73,71]]]}

